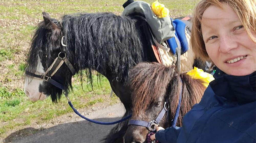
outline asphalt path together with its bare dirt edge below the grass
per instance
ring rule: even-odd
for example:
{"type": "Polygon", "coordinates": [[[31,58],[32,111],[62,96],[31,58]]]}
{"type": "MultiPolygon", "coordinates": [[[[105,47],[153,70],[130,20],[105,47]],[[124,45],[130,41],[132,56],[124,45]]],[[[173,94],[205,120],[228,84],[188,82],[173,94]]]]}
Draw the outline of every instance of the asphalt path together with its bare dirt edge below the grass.
{"type": "MultiPolygon", "coordinates": [[[[88,109],[80,109],[79,112],[90,119],[102,122],[112,122],[122,118],[125,109],[122,103],[106,106],[98,103],[88,109]]],[[[41,125],[29,125],[22,130],[10,132],[8,137],[1,142],[25,143],[25,142],[95,142],[99,143],[115,125],[98,125],[88,122],[74,112],[62,115],[41,125]]]]}

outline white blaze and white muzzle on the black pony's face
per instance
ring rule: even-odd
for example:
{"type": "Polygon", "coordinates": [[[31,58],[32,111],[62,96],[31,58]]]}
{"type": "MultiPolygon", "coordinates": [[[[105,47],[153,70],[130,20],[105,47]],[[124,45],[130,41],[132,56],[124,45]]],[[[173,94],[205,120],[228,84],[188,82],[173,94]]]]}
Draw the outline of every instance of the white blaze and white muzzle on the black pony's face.
{"type": "MultiPolygon", "coordinates": [[[[44,67],[42,66],[39,56],[37,59],[37,67],[36,67],[35,74],[36,75],[45,74],[44,67]]],[[[47,98],[47,96],[44,93],[39,92],[39,86],[40,84],[43,84],[43,81],[44,80],[35,78],[35,77],[33,79],[32,77],[28,77],[28,76],[25,77],[24,92],[31,101],[35,102],[35,101],[38,101],[39,99],[44,100],[45,98],[47,98]]]]}

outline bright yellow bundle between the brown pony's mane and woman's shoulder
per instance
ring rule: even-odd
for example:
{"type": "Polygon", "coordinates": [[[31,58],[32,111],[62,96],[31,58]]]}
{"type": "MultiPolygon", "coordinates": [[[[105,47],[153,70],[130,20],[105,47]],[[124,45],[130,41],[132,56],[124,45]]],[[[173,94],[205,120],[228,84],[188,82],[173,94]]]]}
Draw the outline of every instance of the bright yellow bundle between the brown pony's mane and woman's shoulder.
{"type": "Polygon", "coordinates": [[[190,77],[194,78],[194,79],[201,79],[202,81],[204,81],[204,85],[205,87],[208,87],[209,83],[214,80],[214,77],[209,74],[204,72],[204,70],[199,69],[197,67],[194,67],[194,69],[190,70],[189,72],[187,72],[187,75],[189,75],[190,77]]]}

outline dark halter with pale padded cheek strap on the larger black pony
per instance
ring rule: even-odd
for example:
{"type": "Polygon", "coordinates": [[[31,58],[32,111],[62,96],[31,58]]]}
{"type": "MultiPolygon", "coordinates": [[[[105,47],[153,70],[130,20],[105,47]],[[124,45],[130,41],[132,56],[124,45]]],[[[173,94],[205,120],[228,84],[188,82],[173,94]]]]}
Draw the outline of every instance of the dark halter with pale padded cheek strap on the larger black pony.
{"type": "Polygon", "coordinates": [[[63,63],[65,63],[68,66],[68,68],[72,72],[72,76],[76,74],[76,70],[74,69],[72,64],[69,62],[69,60],[67,59],[66,48],[65,48],[65,47],[67,47],[67,45],[63,44],[63,38],[64,38],[64,36],[61,38],[61,45],[63,46],[62,52],[60,52],[58,54],[58,57],[55,58],[53,63],[46,70],[45,74],[37,75],[37,74],[31,73],[29,71],[26,71],[25,74],[28,76],[40,78],[46,82],[50,82],[51,84],[53,84],[54,86],[56,86],[62,90],[65,90],[65,87],[61,83],[59,83],[51,78],[58,71],[58,69],[61,67],[61,65],[63,63]]]}

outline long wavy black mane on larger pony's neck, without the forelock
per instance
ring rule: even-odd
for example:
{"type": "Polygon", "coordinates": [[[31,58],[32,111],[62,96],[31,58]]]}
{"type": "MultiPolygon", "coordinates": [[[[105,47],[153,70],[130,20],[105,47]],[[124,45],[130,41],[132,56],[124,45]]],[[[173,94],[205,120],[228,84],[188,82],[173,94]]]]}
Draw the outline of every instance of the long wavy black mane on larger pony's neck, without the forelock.
{"type": "Polygon", "coordinates": [[[138,18],[86,13],[65,15],[62,25],[65,36],[74,39],[67,39],[67,46],[75,47],[75,55],[71,55],[75,67],[86,67],[90,79],[93,69],[105,76],[114,75],[117,81],[126,81],[131,67],[147,57],[143,45],[152,45],[146,21],[138,18]]]}

